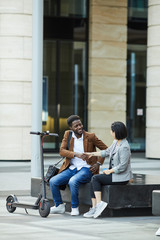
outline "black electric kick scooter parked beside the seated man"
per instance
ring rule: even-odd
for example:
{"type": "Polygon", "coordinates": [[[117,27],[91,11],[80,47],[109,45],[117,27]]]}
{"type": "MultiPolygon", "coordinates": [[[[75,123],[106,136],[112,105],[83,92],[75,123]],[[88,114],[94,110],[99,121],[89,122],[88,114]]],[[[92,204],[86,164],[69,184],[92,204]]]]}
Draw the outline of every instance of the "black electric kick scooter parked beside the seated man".
{"type": "Polygon", "coordinates": [[[47,136],[58,137],[57,133],[46,132],[30,132],[30,134],[39,135],[40,137],[40,160],[41,160],[41,178],[42,178],[42,194],[39,194],[36,202],[34,204],[20,203],[15,195],[9,195],[6,199],[6,208],[8,212],[13,213],[17,207],[24,208],[26,213],[27,209],[39,209],[39,214],[41,217],[47,217],[50,213],[49,200],[46,199],[46,188],[44,182],[44,159],[43,159],[43,139],[47,136]]]}

